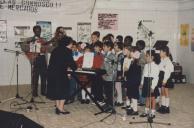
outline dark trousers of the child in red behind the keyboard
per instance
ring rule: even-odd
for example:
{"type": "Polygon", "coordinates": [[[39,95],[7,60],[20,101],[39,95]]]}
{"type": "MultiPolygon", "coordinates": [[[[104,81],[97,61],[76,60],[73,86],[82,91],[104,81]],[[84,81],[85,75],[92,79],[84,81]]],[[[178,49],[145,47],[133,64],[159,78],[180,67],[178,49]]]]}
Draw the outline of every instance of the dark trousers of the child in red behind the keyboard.
{"type": "Polygon", "coordinates": [[[92,78],[92,94],[97,101],[103,101],[103,80],[101,76],[92,78]]]}

